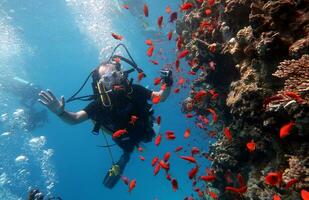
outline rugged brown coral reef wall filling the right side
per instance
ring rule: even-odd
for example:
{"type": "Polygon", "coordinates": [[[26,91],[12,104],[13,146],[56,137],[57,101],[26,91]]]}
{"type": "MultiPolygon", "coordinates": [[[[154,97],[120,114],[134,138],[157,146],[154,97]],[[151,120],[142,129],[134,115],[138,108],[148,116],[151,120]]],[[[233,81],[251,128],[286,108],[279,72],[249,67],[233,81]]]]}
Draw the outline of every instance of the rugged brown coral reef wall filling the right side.
{"type": "Polygon", "coordinates": [[[309,188],[309,1],[186,2],[193,8],[177,33],[198,77],[185,104],[205,117],[215,110],[220,122],[211,186],[219,199],[301,199],[309,188]],[[206,97],[192,103],[201,90],[206,97]]]}

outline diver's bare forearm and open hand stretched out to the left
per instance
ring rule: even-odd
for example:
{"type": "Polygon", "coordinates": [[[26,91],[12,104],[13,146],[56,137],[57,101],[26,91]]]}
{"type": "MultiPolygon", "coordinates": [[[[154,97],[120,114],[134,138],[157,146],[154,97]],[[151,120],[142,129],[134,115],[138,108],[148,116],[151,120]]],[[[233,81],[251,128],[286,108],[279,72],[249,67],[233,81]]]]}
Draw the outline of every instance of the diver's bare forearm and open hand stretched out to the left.
{"type": "Polygon", "coordinates": [[[62,121],[68,124],[78,124],[86,119],[88,115],[85,111],[81,110],[79,112],[69,112],[64,109],[65,100],[61,96],[61,100],[50,91],[41,91],[39,93],[40,99],[38,101],[46,106],[51,112],[55,113],[62,121]]]}

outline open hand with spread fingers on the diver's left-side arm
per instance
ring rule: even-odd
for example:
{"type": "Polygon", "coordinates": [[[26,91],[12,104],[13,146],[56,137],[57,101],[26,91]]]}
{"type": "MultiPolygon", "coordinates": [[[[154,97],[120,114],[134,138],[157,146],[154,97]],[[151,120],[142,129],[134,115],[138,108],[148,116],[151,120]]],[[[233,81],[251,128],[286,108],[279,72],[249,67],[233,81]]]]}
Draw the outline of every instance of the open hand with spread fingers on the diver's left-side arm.
{"type": "Polygon", "coordinates": [[[61,100],[58,100],[48,89],[46,91],[41,91],[39,96],[40,98],[38,101],[56,115],[60,115],[64,112],[65,100],[63,96],[61,96],[61,100]]]}

